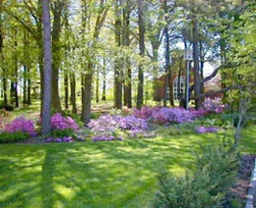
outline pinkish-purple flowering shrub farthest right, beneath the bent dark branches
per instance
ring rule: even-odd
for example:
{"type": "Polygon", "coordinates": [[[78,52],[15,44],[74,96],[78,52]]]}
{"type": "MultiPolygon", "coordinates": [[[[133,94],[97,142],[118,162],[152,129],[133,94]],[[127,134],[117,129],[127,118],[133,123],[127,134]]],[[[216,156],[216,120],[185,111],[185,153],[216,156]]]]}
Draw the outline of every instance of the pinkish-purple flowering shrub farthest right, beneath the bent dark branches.
{"type": "Polygon", "coordinates": [[[216,97],[215,99],[211,99],[210,97],[206,98],[203,102],[203,109],[210,113],[223,113],[225,105],[222,103],[222,99],[220,97],[216,97]]]}

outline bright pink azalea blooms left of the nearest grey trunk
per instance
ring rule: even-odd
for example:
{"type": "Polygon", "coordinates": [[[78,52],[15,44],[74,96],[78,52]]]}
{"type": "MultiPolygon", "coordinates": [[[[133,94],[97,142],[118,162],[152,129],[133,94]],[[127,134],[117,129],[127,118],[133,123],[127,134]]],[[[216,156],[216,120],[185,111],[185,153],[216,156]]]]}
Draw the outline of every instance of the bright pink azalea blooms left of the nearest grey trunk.
{"type": "Polygon", "coordinates": [[[5,126],[7,132],[28,132],[30,135],[36,135],[34,130],[33,121],[25,117],[16,118],[13,122],[5,126]]]}

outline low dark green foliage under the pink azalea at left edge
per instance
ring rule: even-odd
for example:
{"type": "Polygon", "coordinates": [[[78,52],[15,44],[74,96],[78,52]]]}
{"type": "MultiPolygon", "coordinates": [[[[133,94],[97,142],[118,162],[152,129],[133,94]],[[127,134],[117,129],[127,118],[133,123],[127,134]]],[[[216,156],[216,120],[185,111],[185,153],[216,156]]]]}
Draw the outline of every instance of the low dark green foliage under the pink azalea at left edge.
{"type": "Polygon", "coordinates": [[[22,141],[30,137],[28,132],[16,131],[16,132],[1,132],[0,143],[13,143],[22,141]]]}

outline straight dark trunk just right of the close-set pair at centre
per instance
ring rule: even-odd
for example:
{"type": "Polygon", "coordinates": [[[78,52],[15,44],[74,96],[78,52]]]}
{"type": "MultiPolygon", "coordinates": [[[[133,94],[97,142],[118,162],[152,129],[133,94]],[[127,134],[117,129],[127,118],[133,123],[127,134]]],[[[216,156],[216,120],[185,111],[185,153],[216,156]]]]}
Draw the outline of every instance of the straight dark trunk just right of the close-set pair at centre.
{"type": "MultiPolygon", "coordinates": [[[[144,14],[143,14],[143,3],[144,0],[138,0],[138,12],[139,12],[139,48],[140,55],[143,57],[145,55],[145,26],[144,26],[144,14]]],[[[144,74],[142,65],[139,66],[138,74],[138,92],[137,92],[137,108],[143,106],[143,96],[144,96],[144,74]]]]}

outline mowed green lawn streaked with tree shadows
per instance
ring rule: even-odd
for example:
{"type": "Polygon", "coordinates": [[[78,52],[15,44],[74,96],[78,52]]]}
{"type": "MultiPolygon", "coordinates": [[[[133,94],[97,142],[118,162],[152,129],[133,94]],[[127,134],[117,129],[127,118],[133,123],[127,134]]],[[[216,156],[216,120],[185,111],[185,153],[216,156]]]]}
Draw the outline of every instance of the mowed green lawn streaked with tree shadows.
{"type": "MultiPolygon", "coordinates": [[[[151,207],[160,169],[183,175],[199,144],[220,137],[162,133],[127,141],[2,144],[0,207],[151,207]]],[[[243,151],[256,153],[255,127],[243,137],[243,151]]]]}

